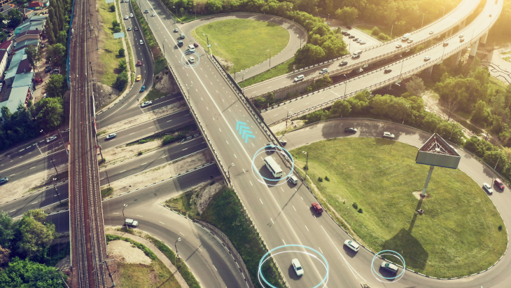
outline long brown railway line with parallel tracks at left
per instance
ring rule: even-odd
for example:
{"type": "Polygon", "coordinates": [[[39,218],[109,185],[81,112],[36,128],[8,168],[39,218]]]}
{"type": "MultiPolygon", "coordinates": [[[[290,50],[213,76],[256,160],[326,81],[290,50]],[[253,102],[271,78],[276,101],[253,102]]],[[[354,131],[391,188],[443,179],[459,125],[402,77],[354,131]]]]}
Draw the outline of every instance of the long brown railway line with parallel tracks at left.
{"type": "Polygon", "coordinates": [[[94,100],[89,78],[88,41],[90,15],[88,0],[76,0],[74,34],[69,46],[71,81],[69,153],[69,210],[73,286],[106,287],[103,263],[106,259],[94,100]]]}

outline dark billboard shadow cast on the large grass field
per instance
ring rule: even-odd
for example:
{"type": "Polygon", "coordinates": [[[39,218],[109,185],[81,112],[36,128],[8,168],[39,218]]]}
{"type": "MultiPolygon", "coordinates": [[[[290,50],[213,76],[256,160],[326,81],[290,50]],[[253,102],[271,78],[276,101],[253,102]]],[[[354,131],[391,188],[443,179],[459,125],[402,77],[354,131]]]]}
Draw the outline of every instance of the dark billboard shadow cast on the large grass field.
{"type": "MultiPolygon", "coordinates": [[[[416,210],[419,210],[422,205],[422,199],[417,203],[416,210]]],[[[402,228],[393,238],[386,240],[381,250],[392,250],[400,253],[406,261],[407,266],[411,266],[416,270],[423,270],[426,268],[426,262],[428,261],[429,254],[421,245],[421,242],[412,235],[412,230],[415,225],[417,217],[422,217],[416,210],[412,217],[412,221],[408,227],[408,230],[402,228]]],[[[385,256],[384,256],[385,257],[385,256]]],[[[386,259],[396,262],[395,257],[387,257],[386,259]]],[[[399,261],[397,261],[398,264],[399,261]]]]}

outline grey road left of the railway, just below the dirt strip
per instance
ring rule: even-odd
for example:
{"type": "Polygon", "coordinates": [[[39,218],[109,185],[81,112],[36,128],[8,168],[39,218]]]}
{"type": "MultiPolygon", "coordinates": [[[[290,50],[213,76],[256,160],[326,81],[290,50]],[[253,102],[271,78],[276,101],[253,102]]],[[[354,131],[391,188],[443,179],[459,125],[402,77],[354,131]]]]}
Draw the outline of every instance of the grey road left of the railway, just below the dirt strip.
{"type": "Polygon", "coordinates": [[[19,217],[28,210],[40,209],[54,203],[66,200],[69,196],[69,182],[49,185],[43,191],[32,193],[0,205],[0,210],[7,212],[9,217],[19,217]]]}

